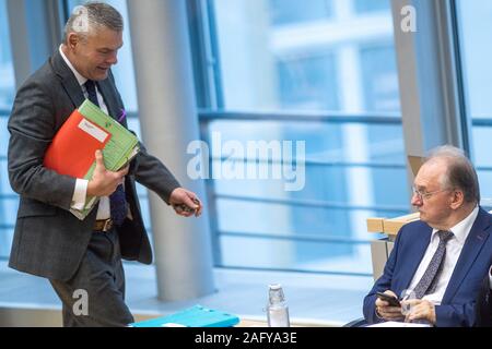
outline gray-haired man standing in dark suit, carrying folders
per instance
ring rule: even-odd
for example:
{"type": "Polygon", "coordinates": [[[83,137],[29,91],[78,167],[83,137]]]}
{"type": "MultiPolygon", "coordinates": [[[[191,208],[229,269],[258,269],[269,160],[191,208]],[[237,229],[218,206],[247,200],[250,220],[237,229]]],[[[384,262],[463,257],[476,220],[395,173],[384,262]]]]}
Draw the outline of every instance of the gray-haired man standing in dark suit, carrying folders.
{"type": "Polygon", "coordinates": [[[152,261],[134,181],[156,192],[178,215],[198,216],[202,209],[197,196],[180,188],[143,145],[118,172],[106,170],[97,152],[90,181],[43,166],[58,129],[85,98],[114,117],[125,109],[110,72],[122,29],[114,8],[79,8],[58,52],[17,92],[9,120],[9,178],[21,195],[9,265],[49,279],[62,301],[65,326],[125,326],[133,321],[125,304],[121,257],[152,261]],[[81,208],[87,195],[99,196],[99,204],[79,220],[70,209],[81,208]],[[80,296],[87,297],[86,311],[75,303],[80,296]]]}

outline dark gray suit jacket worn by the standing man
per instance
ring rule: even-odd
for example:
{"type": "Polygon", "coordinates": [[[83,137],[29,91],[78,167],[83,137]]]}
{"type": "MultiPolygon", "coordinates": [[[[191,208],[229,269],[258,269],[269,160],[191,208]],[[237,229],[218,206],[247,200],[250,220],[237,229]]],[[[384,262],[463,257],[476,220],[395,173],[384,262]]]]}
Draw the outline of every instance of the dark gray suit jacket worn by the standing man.
{"type": "MultiPolygon", "coordinates": [[[[112,116],[121,115],[124,104],[112,74],[97,86],[112,116]]],[[[45,152],[58,129],[79,107],[84,95],[72,71],[56,52],[19,89],[9,119],[9,179],[21,195],[9,266],[59,280],[70,279],[85,253],[97,207],[79,220],[69,209],[75,178],[43,166],[45,152]]],[[[126,127],[126,121],[125,121],[126,127]]],[[[179,183],[167,168],[141,153],[132,161],[125,188],[132,220],[118,228],[121,255],[145,264],[152,251],[143,226],[134,181],[168,202],[179,183]]]]}

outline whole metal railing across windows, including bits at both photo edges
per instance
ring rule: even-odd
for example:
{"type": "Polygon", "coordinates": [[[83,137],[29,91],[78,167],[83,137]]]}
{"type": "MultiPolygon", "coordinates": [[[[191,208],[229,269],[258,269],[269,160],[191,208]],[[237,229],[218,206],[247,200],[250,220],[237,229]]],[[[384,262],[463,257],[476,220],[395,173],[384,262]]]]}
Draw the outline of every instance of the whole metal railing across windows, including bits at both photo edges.
{"type": "MultiPolygon", "coordinates": [[[[8,118],[10,110],[0,109],[0,118],[8,118]]],[[[129,112],[129,118],[137,118],[136,112],[129,112]]],[[[401,125],[401,119],[398,113],[360,113],[360,115],[347,115],[347,113],[321,113],[321,112],[232,112],[232,111],[199,111],[199,120],[202,127],[202,132],[208,131],[208,127],[214,121],[262,121],[262,122],[321,122],[321,123],[335,123],[335,124],[348,124],[348,123],[363,123],[363,124],[380,124],[380,125],[401,125]]],[[[492,127],[492,119],[473,119],[473,127],[492,127]]],[[[207,134],[202,134],[202,139],[207,139],[207,134]]],[[[210,161],[225,160],[226,158],[210,157],[210,161]]],[[[7,156],[0,155],[0,160],[7,160],[7,156]]],[[[267,160],[268,164],[281,164],[281,161],[267,160]]],[[[326,161],[317,159],[306,159],[306,167],[365,167],[372,169],[405,169],[402,164],[376,164],[376,163],[347,163],[347,161],[326,161]]],[[[492,167],[482,166],[478,167],[479,171],[492,171],[492,167]]],[[[385,206],[385,205],[350,205],[347,203],[316,201],[316,200],[301,200],[301,198],[269,198],[269,197],[251,197],[246,195],[227,195],[216,194],[213,191],[213,182],[207,181],[208,185],[211,185],[212,195],[210,198],[215,202],[216,200],[234,200],[250,203],[265,203],[265,204],[280,204],[293,207],[314,207],[326,209],[342,209],[342,210],[371,210],[371,212],[386,212],[394,213],[395,215],[405,214],[408,212],[407,206],[385,206]]],[[[15,194],[0,194],[0,200],[15,200],[19,196],[15,194]]],[[[210,201],[209,201],[210,202],[210,201]]],[[[216,212],[216,210],[215,210],[216,212]]],[[[13,225],[0,225],[0,230],[13,229],[13,225]]],[[[313,233],[288,233],[288,234],[274,234],[265,232],[238,232],[220,230],[215,227],[213,233],[222,237],[238,237],[238,238],[251,238],[251,239],[269,239],[269,240],[284,240],[284,241],[298,241],[298,242],[321,242],[321,243],[337,243],[337,244],[368,244],[368,240],[351,239],[337,236],[319,236],[313,233]]],[[[227,266],[229,267],[229,266],[227,266]]],[[[232,268],[242,268],[234,267],[232,268]]],[[[248,269],[251,269],[248,267],[248,269]]],[[[255,269],[255,268],[254,268],[255,269]]],[[[263,269],[263,268],[258,268],[263,269]]],[[[296,268],[267,268],[269,270],[294,270],[302,273],[311,273],[309,270],[296,269],[296,268]]],[[[323,273],[323,272],[314,272],[323,273]]],[[[339,273],[329,272],[329,274],[352,275],[354,273],[339,273]]],[[[368,275],[359,274],[355,275],[368,275]]]]}

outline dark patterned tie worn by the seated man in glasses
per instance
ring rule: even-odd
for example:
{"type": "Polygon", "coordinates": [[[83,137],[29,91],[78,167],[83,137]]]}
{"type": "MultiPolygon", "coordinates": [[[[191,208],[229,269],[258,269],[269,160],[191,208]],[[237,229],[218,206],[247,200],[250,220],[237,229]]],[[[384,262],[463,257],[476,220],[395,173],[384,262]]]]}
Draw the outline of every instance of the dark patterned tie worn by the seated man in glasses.
{"type": "Polygon", "coordinates": [[[421,299],[426,293],[431,293],[434,291],[440,274],[443,270],[444,256],[446,255],[446,243],[450,238],[453,238],[453,232],[440,230],[437,231],[437,234],[440,237],[440,244],[437,246],[437,250],[432,256],[431,263],[429,263],[424,275],[413,289],[417,299],[421,299]]]}

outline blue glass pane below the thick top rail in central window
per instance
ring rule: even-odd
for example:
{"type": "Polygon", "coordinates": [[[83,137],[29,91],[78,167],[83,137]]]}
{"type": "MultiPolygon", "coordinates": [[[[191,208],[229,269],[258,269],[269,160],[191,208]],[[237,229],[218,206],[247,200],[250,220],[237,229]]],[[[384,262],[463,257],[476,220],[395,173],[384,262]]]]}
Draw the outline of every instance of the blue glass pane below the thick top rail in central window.
{"type": "MultiPolygon", "coordinates": [[[[212,145],[209,155],[213,161],[208,174],[214,180],[219,231],[374,239],[366,232],[366,218],[383,212],[384,217],[399,216],[410,208],[401,139],[399,124],[213,121],[209,132],[212,145]],[[361,139],[353,137],[356,134],[361,139]],[[259,153],[248,152],[261,142],[269,146],[268,153],[259,156],[259,153]],[[297,152],[296,142],[304,142],[305,154],[297,152]],[[351,142],[353,148],[347,148],[347,142],[351,142]],[[286,190],[286,183],[292,181],[284,176],[281,166],[285,159],[283,146],[289,144],[294,155],[292,164],[295,164],[295,176],[290,179],[302,183],[295,191],[286,190]],[[259,171],[249,171],[249,168],[263,169],[266,177],[260,178],[259,171]]],[[[237,241],[237,237],[226,239],[227,249],[237,241]]],[[[268,244],[268,239],[262,239],[261,243],[268,244]]],[[[297,245],[296,241],[291,241],[288,244],[300,253],[292,256],[293,265],[297,257],[325,263],[341,255],[350,256],[354,248],[326,243],[326,248],[332,250],[320,254],[313,250],[309,255],[313,243],[297,245]]],[[[225,245],[222,253],[230,253],[224,249],[225,245]]],[[[243,251],[243,245],[241,249],[243,251]]],[[[261,255],[260,251],[256,252],[258,258],[270,257],[261,255]]],[[[235,261],[237,258],[239,256],[235,256],[235,261]]],[[[328,264],[326,266],[328,270],[328,264]]],[[[345,267],[342,269],[349,272],[353,266],[345,267]]]]}

